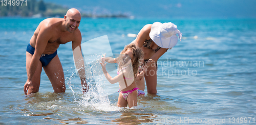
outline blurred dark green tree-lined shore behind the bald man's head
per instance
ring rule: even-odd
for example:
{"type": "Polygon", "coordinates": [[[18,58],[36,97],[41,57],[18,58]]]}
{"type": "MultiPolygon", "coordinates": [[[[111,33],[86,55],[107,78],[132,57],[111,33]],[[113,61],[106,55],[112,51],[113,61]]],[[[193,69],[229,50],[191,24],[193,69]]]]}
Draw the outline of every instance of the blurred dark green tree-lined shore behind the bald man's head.
{"type": "MultiPolygon", "coordinates": [[[[0,8],[1,17],[31,17],[31,18],[48,18],[48,17],[63,17],[69,10],[69,7],[61,6],[53,3],[45,3],[43,0],[28,0],[26,5],[5,5],[0,8]]],[[[82,12],[82,17],[88,18],[134,18],[123,13],[118,14],[104,14],[102,13],[88,13],[82,12]]]]}

